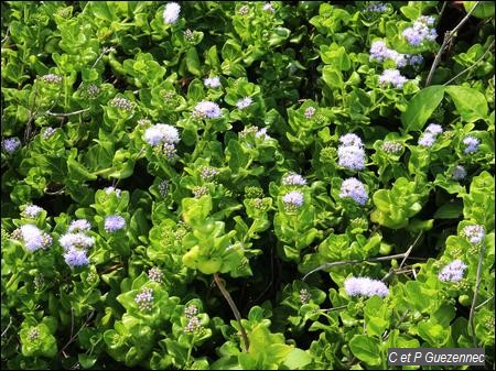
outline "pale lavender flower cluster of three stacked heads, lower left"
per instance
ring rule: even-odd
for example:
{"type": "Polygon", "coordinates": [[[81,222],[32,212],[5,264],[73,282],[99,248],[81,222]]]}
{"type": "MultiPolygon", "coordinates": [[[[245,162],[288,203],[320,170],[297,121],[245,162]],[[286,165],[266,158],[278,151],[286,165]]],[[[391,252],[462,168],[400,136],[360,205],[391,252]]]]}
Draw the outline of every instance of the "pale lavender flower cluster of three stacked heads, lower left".
{"type": "Polygon", "coordinates": [[[82,266],[89,264],[87,251],[95,244],[95,239],[87,236],[91,226],[86,219],[78,219],[71,222],[67,233],[58,239],[58,243],[64,249],[64,260],[71,266],[82,266]]]}

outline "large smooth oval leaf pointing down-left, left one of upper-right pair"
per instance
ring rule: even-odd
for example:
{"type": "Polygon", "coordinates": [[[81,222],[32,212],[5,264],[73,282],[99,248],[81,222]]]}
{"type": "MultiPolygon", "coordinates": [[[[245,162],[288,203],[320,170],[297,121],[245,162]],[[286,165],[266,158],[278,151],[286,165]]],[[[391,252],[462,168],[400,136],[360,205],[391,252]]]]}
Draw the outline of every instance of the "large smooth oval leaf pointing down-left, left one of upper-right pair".
{"type": "Polygon", "coordinates": [[[407,132],[422,130],[432,112],[438,108],[444,97],[444,87],[430,86],[420,90],[408,103],[407,110],[401,113],[401,123],[407,132]]]}

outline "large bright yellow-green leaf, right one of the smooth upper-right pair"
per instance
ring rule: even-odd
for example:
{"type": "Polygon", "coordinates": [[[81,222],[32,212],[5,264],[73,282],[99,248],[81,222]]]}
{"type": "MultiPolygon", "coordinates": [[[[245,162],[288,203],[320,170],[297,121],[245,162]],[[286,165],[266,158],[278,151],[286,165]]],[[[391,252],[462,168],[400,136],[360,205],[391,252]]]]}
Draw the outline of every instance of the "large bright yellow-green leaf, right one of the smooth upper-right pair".
{"type": "Polygon", "coordinates": [[[446,86],[445,90],[453,99],[462,120],[474,122],[487,118],[487,100],[481,91],[457,85],[446,86]]]}

